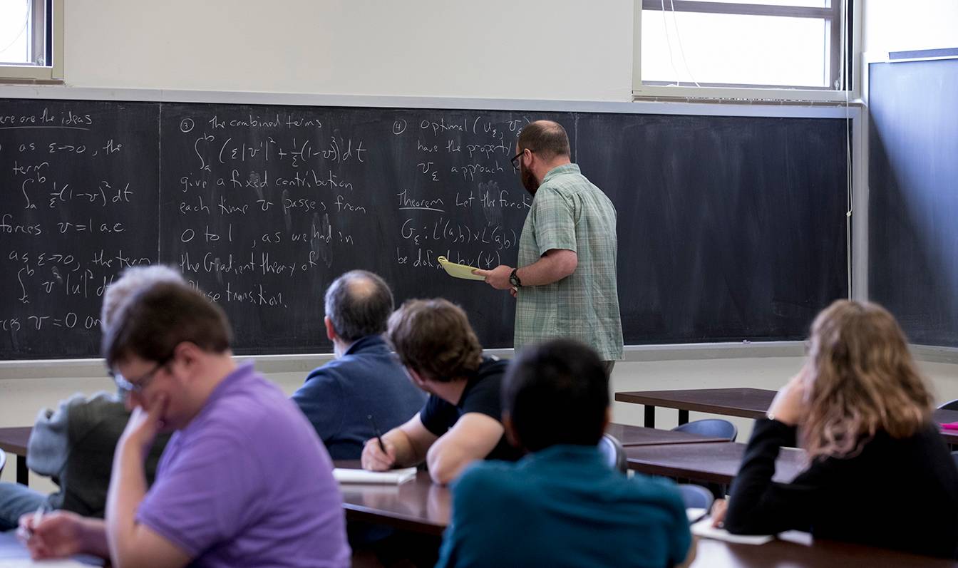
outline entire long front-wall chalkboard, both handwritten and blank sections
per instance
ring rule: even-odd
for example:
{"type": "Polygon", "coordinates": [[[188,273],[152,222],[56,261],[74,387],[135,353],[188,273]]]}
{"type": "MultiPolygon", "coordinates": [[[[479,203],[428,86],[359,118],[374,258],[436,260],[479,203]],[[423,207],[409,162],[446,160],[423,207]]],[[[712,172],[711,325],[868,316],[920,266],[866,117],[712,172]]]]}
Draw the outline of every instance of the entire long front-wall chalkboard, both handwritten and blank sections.
{"type": "Polygon", "coordinates": [[[485,347],[513,299],[445,255],[514,264],[522,125],[565,125],[618,210],[626,343],[802,338],[847,295],[842,120],[171,102],[0,102],[4,358],[96,356],[103,287],[162,261],[238,353],[328,352],[323,291],[373,270],[445,296],[485,347]]]}

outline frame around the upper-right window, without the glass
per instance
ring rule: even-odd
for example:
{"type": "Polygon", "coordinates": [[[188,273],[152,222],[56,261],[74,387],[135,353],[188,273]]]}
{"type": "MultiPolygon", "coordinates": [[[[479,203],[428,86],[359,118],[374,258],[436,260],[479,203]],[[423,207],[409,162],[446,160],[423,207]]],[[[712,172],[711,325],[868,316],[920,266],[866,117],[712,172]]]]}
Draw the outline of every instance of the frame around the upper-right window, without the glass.
{"type": "Polygon", "coordinates": [[[642,81],[642,12],[662,11],[662,0],[633,0],[632,24],[632,100],[712,100],[720,102],[851,102],[860,99],[860,2],[833,0],[831,8],[774,6],[763,4],[738,4],[703,2],[699,0],[665,0],[666,11],[694,11],[704,13],[728,13],[741,15],[771,15],[783,17],[837,17],[839,24],[832,27],[830,40],[839,41],[833,50],[831,65],[833,78],[842,82],[843,88],[828,87],[790,88],[782,86],[736,85],[722,83],[699,83],[701,86],[680,83],[656,84],[642,81]],[[848,6],[848,9],[845,7],[848,6]],[[681,9],[681,10],[680,10],[681,9]],[[851,35],[850,38],[847,37],[851,35]],[[836,39],[837,37],[837,39],[836,39]]]}

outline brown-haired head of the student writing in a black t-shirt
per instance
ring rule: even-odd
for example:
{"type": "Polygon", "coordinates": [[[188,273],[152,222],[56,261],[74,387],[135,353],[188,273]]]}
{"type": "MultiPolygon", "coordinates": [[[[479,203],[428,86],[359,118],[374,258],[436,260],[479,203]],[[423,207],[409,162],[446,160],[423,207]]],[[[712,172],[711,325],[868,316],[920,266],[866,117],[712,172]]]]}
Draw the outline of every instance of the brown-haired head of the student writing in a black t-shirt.
{"type": "Polygon", "coordinates": [[[447,300],[409,300],[389,317],[386,339],[406,367],[447,382],[475,371],[482,346],[466,312],[447,300]]]}

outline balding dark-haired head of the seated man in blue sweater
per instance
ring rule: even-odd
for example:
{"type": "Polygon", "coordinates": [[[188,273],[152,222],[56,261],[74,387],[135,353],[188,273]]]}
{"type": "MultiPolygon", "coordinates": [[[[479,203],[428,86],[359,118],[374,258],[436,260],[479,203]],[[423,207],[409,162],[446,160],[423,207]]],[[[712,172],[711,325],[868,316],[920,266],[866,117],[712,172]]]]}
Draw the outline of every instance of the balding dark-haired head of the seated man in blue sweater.
{"type": "Polygon", "coordinates": [[[372,272],[351,270],[326,290],[326,316],[343,341],[383,333],[392,312],[393,292],[372,272]]]}

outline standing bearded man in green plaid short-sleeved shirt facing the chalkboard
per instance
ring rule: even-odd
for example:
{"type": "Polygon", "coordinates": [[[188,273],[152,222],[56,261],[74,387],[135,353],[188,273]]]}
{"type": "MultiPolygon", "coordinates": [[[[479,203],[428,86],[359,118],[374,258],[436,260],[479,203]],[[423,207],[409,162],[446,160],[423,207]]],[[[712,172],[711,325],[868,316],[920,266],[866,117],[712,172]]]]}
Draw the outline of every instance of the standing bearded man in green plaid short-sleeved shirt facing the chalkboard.
{"type": "Polygon", "coordinates": [[[512,290],[515,348],[555,337],[591,346],[611,373],[622,357],[612,202],[570,161],[562,125],[537,121],[519,133],[513,169],[533,195],[516,267],[474,270],[512,290]]]}

